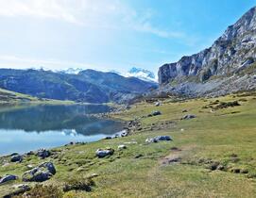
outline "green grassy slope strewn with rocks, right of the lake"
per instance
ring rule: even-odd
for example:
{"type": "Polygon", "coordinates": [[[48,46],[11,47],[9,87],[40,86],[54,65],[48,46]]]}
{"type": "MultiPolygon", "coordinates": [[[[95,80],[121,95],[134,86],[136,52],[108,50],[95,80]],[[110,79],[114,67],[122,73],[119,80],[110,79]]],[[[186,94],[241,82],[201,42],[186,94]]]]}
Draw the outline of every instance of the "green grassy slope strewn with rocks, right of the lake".
{"type": "MultiPolygon", "coordinates": [[[[113,116],[131,120],[158,109],[162,111],[161,116],[141,119],[143,128],[151,124],[162,125],[165,121],[174,121],[176,126],[135,132],[122,139],[100,140],[55,149],[57,157],[47,160],[55,163],[58,173],[45,184],[60,187],[70,177],[97,173],[99,176],[94,178],[92,192],[74,191],[70,192],[70,197],[255,197],[256,99],[253,96],[243,98],[247,98],[247,102],[240,102],[242,106],[219,109],[214,113],[209,108],[202,108],[211,101],[203,99],[183,103],[165,101],[161,107],[136,105],[127,112],[113,116]],[[180,121],[180,117],[187,114],[182,113],[183,109],[196,114],[197,118],[180,121]],[[146,138],[157,135],[170,135],[174,140],[145,144],[146,138]],[[138,143],[128,145],[127,150],[117,151],[119,144],[131,140],[138,143]],[[97,148],[107,146],[116,150],[113,156],[102,159],[94,157],[97,148]],[[170,148],[174,146],[182,151],[171,151],[170,148]],[[138,154],[143,157],[134,158],[138,154]],[[181,157],[181,164],[163,166],[162,157],[172,154],[181,157]],[[237,155],[235,161],[231,159],[233,154],[237,155]],[[198,163],[200,159],[209,158],[223,164],[228,171],[211,172],[206,169],[207,164],[198,163]],[[230,173],[232,168],[247,169],[248,173],[230,173]]],[[[219,98],[221,101],[239,99],[241,97],[219,98]]],[[[21,164],[0,167],[0,175],[22,175],[27,164],[37,165],[41,161],[37,157],[26,157],[21,164]]],[[[0,195],[8,191],[11,185],[1,186],[0,195]]]]}

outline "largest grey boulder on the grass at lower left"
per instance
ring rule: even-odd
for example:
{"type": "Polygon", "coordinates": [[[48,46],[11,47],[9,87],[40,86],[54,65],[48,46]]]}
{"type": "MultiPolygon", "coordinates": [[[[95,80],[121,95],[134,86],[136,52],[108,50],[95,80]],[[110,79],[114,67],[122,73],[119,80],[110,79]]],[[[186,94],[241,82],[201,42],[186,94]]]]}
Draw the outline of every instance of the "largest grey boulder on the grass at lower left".
{"type": "Polygon", "coordinates": [[[25,182],[43,182],[50,179],[56,173],[52,162],[44,162],[38,167],[23,174],[25,182]]]}

